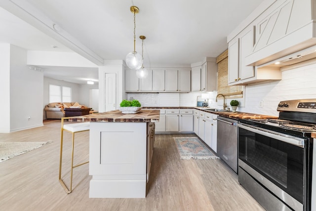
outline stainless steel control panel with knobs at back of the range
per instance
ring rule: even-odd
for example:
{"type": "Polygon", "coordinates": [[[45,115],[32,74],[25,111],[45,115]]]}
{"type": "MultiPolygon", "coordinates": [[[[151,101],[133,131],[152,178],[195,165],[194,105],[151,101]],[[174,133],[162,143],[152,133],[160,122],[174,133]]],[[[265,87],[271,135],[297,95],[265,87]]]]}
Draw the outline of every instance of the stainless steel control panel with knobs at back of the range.
{"type": "Polygon", "coordinates": [[[279,102],[276,110],[316,113],[316,99],[284,100],[279,102]]]}

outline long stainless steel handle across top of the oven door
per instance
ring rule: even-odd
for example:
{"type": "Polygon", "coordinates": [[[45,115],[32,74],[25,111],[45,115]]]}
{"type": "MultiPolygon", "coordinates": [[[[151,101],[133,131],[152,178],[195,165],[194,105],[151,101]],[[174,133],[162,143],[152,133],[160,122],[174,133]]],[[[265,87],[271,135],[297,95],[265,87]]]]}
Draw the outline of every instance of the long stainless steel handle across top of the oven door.
{"type": "Polygon", "coordinates": [[[277,132],[274,132],[274,131],[271,131],[271,130],[265,130],[263,128],[260,128],[260,129],[258,128],[257,129],[257,128],[254,128],[254,127],[249,127],[249,126],[242,125],[240,123],[238,123],[237,126],[240,127],[240,128],[249,130],[251,132],[255,132],[255,133],[258,133],[258,134],[261,134],[261,135],[264,135],[264,136],[268,136],[268,137],[274,138],[276,140],[280,140],[280,141],[283,141],[283,142],[286,142],[286,143],[289,143],[289,144],[292,144],[292,145],[296,145],[296,146],[299,146],[299,147],[304,147],[305,139],[303,139],[303,138],[298,138],[298,137],[294,137],[294,136],[285,137],[284,134],[281,134],[281,133],[277,133],[277,132]]]}

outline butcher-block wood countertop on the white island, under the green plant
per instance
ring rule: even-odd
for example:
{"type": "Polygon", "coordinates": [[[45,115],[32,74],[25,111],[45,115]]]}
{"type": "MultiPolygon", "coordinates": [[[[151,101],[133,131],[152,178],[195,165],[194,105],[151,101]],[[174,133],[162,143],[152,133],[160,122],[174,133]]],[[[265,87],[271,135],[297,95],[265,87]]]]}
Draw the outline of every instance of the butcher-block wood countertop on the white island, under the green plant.
{"type": "Polygon", "coordinates": [[[70,117],[69,122],[159,122],[159,110],[144,110],[136,114],[122,114],[119,110],[95,113],[84,116],[70,117]]]}

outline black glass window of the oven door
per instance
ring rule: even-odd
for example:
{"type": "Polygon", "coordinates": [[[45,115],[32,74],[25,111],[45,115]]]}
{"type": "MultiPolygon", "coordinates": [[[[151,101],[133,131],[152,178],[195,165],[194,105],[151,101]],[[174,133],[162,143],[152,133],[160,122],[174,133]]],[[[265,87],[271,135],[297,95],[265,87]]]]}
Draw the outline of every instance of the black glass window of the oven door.
{"type": "Polygon", "coordinates": [[[304,149],[239,128],[239,159],[303,202],[304,149]]]}

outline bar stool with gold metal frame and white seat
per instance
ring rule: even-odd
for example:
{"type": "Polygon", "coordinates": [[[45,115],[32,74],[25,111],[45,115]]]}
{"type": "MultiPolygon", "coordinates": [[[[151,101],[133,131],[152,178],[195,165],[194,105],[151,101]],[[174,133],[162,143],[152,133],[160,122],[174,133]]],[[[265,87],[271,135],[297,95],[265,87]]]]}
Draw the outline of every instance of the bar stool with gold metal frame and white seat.
{"type": "Polygon", "coordinates": [[[90,129],[90,122],[84,122],[84,123],[75,123],[75,124],[66,124],[64,125],[64,120],[69,119],[69,117],[64,117],[61,119],[61,137],[60,137],[60,162],[59,162],[59,182],[67,192],[67,194],[71,193],[72,186],[73,186],[73,169],[76,167],[79,167],[83,164],[89,163],[89,161],[78,164],[74,166],[74,146],[75,146],[75,133],[77,132],[83,132],[90,129]],[[70,188],[68,189],[65,182],[61,179],[61,167],[62,167],[62,157],[63,157],[63,137],[64,137],[64,131],[68,131],[73,134],[73,144],[72,144],[72,155],[71,155],[71,172],[70,172],[70,188]]]}

